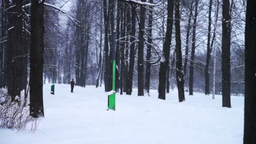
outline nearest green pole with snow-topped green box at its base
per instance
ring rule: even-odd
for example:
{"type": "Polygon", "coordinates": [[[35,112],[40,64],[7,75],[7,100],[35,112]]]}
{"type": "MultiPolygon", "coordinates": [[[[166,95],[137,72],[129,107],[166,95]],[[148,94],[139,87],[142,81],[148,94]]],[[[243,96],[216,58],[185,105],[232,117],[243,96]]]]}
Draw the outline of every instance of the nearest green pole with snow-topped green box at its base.
{"type": "Polygon", "coordinates": [[[108,95],[108,108],[115,110],[115,48],[116,48],[116,32],[114,31],[113,34],[113,84],[112,84],[112,91],[108,95]]]}

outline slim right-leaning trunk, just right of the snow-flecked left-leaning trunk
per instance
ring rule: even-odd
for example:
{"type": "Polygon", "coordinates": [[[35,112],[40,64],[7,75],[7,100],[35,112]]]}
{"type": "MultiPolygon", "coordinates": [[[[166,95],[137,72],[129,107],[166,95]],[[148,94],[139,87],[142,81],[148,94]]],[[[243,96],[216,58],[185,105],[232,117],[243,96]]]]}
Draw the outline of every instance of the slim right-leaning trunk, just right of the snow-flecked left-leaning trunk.
{"type": "Polygon", "coordinates": [[[195,17],[194,17],[193,32],[192,32],[192,48],[191,48],[191,57],[190,57],[190,65],[189,65],[189,95],[193,95],[197,7],[198,7],[198,0],[195,1],[195,17]]]}

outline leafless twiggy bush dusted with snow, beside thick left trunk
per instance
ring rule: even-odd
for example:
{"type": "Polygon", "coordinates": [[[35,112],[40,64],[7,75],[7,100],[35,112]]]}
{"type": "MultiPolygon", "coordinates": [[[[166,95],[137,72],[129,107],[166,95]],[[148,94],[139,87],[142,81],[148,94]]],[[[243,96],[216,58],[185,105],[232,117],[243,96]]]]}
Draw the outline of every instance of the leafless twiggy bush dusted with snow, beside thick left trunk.
{"type": "Polygon", "coordinates": [[[32,130],[35,131],[36,126],[33,128],[33,123],[36,119],[29,115],[29,105],[24,100],[24,92],[21,92],[21,97],[16,96],[16,99],[20,102],[11,102],[7,89],[0,89],[0,128],[22,131],[27,123],[32,122],[32,130]]]}

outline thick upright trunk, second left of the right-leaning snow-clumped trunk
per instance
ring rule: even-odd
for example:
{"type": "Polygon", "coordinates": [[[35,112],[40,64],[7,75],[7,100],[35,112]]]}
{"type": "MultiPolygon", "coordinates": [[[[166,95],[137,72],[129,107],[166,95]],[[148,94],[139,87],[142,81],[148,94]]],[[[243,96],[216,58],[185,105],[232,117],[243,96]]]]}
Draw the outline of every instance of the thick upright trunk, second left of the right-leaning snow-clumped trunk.
{"type": "MultiPolygon", "coordinates": [[[[146,0],[141,0],[146,2],[146,0]]],[[[139,43],[138,43],[138,96],[144,96],[144,28],[145,28],[145,12],[143,5],[140,8],[139,20],[139,43]]]]}

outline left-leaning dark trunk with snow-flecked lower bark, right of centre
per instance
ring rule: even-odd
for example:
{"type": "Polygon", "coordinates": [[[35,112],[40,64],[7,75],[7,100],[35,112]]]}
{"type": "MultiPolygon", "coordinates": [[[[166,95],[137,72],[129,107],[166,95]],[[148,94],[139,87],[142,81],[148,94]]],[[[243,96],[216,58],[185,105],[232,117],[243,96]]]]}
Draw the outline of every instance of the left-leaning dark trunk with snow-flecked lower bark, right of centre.
{"type": "Polygon", "coordinates": [[[185,101],[184,72],[182,70],[181,30],[180,30],[180,0],[175,0],[175,37],[176,37],[176,81],[179,94],[179,102],[185,101]]]}

